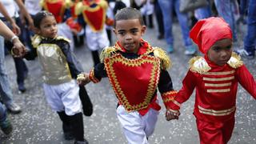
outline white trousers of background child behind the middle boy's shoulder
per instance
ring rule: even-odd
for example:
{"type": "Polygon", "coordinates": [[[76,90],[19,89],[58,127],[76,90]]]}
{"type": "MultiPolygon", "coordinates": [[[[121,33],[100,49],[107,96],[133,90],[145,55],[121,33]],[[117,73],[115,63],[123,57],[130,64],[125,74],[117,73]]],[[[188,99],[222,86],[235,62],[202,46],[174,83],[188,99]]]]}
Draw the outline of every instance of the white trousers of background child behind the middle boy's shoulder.
{"type": "Polygon", "coordinates": [[[90,26],[86,26],[86,43],[90,50],[101,50],[110,46],[105,26],[102,31],[94,32],[90,26]]]}

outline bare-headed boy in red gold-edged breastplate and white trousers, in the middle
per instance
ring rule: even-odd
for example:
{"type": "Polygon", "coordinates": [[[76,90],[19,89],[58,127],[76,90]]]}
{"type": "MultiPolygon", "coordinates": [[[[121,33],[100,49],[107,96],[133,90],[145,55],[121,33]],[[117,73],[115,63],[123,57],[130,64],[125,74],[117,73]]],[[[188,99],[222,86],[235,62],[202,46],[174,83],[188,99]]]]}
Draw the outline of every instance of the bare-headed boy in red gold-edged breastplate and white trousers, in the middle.
{"type": "Polygon", "coordinates": [[[90,74],[78,75],[80,85],[109,78],[118,98],[118,120],[129,143],[148,143],[153,134],[161,109],[157,89],[166,109],[176,94],[167,71],[170,58],[161,48],[142,39],[145,31],[138,10],[127,7],[118,11],[114,20],[118,42],[102,51],[101,63],[90,74]]]}

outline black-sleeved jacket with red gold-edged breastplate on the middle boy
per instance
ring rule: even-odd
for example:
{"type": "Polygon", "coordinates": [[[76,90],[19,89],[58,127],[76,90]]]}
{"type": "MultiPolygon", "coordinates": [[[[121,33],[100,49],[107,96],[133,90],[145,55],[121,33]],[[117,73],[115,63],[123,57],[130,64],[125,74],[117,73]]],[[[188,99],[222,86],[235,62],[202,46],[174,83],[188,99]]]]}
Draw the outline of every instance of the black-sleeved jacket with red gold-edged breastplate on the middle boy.
{"type": "Polygon", "coordinates": [[[150,108],[160,110],[156,102],[157,89],[166,108],[177,92],[166,70],[170,66],[169,56],[144,40],[141,44],[137,54],[127,53],[118,42],[105,48],[101,54],[102,63],[90,70],[90,80],[100,82],[101,78],[108,77],[118,104],[128,112],[138,111],[144,115],[150,108]]]}

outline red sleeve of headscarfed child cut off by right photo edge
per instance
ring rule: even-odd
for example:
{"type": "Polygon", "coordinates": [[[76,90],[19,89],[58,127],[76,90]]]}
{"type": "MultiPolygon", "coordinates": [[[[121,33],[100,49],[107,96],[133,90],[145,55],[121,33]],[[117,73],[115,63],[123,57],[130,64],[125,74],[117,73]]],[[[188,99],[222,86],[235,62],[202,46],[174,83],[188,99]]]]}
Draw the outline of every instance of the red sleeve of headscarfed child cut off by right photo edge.
{"type": "Polygon", "coordinates": [[[249,70],[247,70],[246,66],[240,66],[236,71],[236,75],[238,77],[238,82],[242,85],[242,87],[256,99],[256,82],[249,70]]]}

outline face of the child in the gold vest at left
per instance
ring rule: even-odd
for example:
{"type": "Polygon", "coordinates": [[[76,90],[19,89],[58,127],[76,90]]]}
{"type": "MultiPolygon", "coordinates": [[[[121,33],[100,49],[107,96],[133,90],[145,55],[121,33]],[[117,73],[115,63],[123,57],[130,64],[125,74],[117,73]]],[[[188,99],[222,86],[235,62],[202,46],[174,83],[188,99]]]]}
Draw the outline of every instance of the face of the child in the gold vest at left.
{"type": "Polygon", "coordinates": [[[43,18],[40,23],[38,34],[46,38],[55,38],[57,36],[57,31],[57,22],[54,16],[46,16],[46,18],[43,18]]]}

